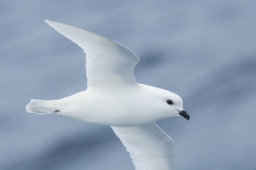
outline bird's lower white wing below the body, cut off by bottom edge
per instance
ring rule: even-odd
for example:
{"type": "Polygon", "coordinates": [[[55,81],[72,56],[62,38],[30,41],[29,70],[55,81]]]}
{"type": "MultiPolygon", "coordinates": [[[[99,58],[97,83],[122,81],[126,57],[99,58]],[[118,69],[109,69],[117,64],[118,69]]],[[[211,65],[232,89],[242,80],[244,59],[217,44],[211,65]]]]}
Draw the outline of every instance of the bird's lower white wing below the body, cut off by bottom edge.
{"type": "Polygon", "coordinates": [[[136,170],[177,169],[173,140],[156,123],[111,128],[130,152],[136,170]]]}

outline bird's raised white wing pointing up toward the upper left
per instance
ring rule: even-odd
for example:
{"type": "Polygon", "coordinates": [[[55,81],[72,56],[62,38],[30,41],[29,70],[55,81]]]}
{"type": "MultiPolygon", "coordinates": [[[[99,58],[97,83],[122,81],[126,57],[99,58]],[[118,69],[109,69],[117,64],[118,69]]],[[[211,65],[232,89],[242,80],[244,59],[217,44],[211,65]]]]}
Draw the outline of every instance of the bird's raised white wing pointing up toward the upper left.
{"type": "Polygon", "coordinates": [[[95,85],[134,84],[133,69],[139,57],[123,45],[90,31],[45,20],[86,53],[87,88],[95,85]]]}

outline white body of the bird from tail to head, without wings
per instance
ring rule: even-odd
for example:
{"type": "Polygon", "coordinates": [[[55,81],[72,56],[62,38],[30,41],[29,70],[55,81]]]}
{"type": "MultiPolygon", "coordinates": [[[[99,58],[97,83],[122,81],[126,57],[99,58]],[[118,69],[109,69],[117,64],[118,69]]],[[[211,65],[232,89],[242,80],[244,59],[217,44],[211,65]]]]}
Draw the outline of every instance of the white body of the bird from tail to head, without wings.
{"type": "MultiPolygon", "coordinates": [[[[179,116],[177,110],[173,115],[170,113],[170,106],[166,104],[165,99],[157,98],[159,93],[165,95],[171,92],[142,84],[121,87],[98,86],[60,100],[32,100],[27,110],[37,114],[54,114],[88,123],[134,127],[171,116],[179,116]],[[35,107],[35,105],[38,106],[35,107]],[[166,110],[164,111],[163,108],[166,110]]],[[[166,100],[169,97],[170,95],[166,95],[166,100]]],[[[176,100],[182,102],[178,96],[176,100]]],[[[179,109],[183,110],[183,108],[179,109]]]]}

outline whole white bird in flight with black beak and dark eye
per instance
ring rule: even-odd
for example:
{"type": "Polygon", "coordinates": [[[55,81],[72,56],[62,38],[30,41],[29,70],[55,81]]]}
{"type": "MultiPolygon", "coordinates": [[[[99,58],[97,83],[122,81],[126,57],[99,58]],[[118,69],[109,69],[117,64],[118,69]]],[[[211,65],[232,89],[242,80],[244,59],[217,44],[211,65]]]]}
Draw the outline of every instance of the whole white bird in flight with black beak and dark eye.
{"type": "Polygon", "coordinates": [[[155,122],[180,115],[189,119],[180,96],[137,83],[133,69],[140,59],[123,45],[81,28],[45,22],[84,49],[87,89],[60,100],[32,99],[27,111],[111,126],[136,170],[176,170],[173,140],[155,122]]]}

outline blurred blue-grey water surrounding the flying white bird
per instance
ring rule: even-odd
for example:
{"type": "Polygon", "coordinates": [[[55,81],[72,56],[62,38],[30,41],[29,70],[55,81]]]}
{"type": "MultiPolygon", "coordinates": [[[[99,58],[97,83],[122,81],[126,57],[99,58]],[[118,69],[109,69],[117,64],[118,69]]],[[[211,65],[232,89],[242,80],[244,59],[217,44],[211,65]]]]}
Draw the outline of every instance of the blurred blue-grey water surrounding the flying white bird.
{"type": "Polygon", "coordinates": [[[256,169],[256,1],[0,2],[0,169],[132,170],[110,127],[26,112],[86,89],[81,48],[50,19],[140,57],[137,82],[172,91],[190,120],[157,122],[180,170],[256,169]]]}

